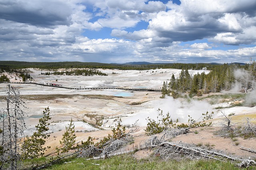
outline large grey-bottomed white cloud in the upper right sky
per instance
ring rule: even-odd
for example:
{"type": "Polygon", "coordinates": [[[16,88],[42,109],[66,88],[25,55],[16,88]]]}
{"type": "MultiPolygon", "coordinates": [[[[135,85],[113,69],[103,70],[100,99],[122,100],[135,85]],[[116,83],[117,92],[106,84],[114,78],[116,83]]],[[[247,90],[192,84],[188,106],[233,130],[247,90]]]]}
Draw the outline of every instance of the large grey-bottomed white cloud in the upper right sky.
{"type": "MultiPolygon", "coordinates": [[[[158,37],[169,38],[170,41],[218,37],[218,41],[232,45],[256,41],[254,38],[250,41],[241,39],[256,21],[255,15],[252,15],[256,14],[253,10],[256,9],[256,2],[253,0],[246,3],[232,0],[181,0],[181,5],[169,2],[167,7],[168,11],[158,12],[149,21],[148,29],[156,32],[158,37]],[[234,38],[229,37],[227,40],[226,37],[220,36],[222,34],[232,34],[234,38]]],[[[132,34],[134,33],[128,35],[133,37],[132,34]]]]}

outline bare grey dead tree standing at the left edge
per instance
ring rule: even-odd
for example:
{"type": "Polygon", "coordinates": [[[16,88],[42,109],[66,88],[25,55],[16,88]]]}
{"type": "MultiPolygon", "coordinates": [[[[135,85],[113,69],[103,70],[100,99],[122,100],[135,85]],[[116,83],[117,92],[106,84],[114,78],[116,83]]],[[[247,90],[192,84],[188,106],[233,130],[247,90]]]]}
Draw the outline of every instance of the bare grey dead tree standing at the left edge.
{"type": "Polygon", "coordinates": [[[24,138],[24,102],[20,92],[6,86],[6,108],[0,110],[0,169],[16,170],[20,159],[20,143],[24,138]]]}

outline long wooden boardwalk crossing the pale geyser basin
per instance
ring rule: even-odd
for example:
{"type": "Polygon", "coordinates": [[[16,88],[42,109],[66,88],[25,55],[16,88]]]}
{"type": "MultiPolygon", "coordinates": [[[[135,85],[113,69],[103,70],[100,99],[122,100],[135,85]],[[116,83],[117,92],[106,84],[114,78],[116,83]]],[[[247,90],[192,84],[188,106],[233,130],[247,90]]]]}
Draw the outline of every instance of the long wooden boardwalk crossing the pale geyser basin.
{"type": "Polygon", "coordinates": [[[116,88],[114,88],[114,87],[71,88],[71,87],[56,86],[56,85],[49,85],[49,84],[36,83],[36,82],[0,82],[0,83],[37,84],[40,86],[49,86],[49,87],[66,88],[66,89],[74,89],[74,90],[119,89],[119,90],[129,90],[129,91],[161,92],[161,88],[120,88],[120,87],[116,87],[116,88]]]}

